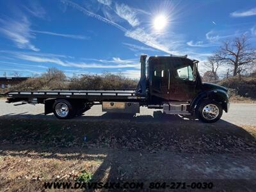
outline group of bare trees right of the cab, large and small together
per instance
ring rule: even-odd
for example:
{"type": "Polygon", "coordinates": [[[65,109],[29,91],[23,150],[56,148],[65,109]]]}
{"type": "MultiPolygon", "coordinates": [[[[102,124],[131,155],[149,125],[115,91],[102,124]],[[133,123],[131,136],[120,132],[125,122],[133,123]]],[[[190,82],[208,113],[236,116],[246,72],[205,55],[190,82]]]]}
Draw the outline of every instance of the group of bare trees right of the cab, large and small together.
{"type": "Polygon", "coordinates": [[[218,50],[207,58],[205,66],[210,68],[204,73],[204,81],[219,79],[218,70],[226,67],[225,77],[239,76],[246,72],[251,74],[256,69],[256,49],[251,46],[246,35],[221,43],[218,50]]]}

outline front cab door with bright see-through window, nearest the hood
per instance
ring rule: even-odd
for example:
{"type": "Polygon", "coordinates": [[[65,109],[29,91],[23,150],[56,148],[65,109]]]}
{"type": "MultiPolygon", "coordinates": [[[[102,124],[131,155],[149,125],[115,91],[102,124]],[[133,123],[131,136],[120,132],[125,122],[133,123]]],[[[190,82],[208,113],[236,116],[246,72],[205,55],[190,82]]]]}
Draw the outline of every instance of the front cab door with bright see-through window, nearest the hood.
{"type": "Polygon", "coordinates": [[[196,81],[189,63],[174,65],[170,83],[170,100],[191,101],[196,94],[196,81]]]}

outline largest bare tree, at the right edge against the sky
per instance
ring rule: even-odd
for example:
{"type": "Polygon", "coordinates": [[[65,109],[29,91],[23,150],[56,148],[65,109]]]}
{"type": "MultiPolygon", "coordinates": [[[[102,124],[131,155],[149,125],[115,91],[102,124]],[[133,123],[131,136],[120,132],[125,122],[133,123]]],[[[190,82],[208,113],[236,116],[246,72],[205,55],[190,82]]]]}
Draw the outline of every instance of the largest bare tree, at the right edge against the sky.
{"type": "Polygon", "coordinates": [[[234,38],[232,41],[223,42],[214,58],[233,68],[233,76],[241,74],[246,68],[253,65],[256,60],[256,51],[248,43],[246,35],[234,38]]]}

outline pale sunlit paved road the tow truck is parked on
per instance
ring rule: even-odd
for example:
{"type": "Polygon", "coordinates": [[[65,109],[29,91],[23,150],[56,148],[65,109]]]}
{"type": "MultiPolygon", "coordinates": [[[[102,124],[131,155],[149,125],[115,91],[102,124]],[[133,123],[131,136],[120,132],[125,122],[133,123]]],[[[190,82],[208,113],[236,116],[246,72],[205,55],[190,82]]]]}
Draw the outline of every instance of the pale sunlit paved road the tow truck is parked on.
{"type": "MultiPolygon", "coordinates": [[[[191,116],[180,116],[180,115],[162,115],[159,109],[147,109],[141,107],[140,114],[136,114],[136,120],[189,120],[191,116]]],[[[44,115],[44,105],[37,104],[33,106],[26,104],[22,106],[13,106],[13,104],[7,104],[3,99],[0,100],[0,118],[12,117],[12,118],[54,118],[54,115],[44,115]]],[[[125,114],[107,114],[102,112],[101,106],[93,106],[92,109],[86,111],[83,116],[77,117],[77,120],[86,119],[113,119],[113,118],[134,118],[125,114]]],[[[221,118],[225,122],[236,125],[256,125],[256,104],[231,104],[230,111],[223,113],[221,118]]]]}

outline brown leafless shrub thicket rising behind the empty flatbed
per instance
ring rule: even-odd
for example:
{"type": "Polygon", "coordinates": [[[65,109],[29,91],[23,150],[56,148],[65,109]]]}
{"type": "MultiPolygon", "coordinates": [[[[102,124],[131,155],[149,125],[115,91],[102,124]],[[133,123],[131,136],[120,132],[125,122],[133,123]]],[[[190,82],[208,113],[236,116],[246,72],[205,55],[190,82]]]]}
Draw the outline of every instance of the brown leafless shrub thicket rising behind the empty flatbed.
{"type": "Polygon", "coordinates": [[[137,81],[129,79],[122,74],[114,75],[108,72],[105,72],[102,76],[85,74],[68,79],[61,70],[49,68],[47,72],[40,77],[31,77],[16,86],[12,86],[10,91],[52,89],[134,89],[137,84],[137,81]]]}

